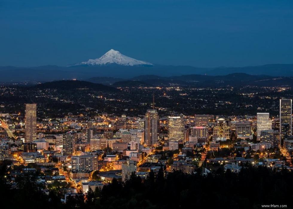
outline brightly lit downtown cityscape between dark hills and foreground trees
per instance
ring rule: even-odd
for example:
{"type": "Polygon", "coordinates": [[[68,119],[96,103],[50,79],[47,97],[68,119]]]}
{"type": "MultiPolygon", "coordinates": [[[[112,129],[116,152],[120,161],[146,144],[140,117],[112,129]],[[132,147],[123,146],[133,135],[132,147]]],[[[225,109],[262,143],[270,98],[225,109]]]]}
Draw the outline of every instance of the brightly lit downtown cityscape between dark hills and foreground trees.
{"type": "MultiPolygon", "coordinates": [[[[169,99],[168,95],[172,95],[166,94],[168,88],[159,88],[165,93],[156,94],[156,103],[152,93],[149,98],[152,102],[139,104],[143,115],[132,114],[131,109],[123,109],[130,115],[117,115],[115,110],[95,110],[89,115],[90,108],[87,108],[80,109],[82,112],[77,115],[66,110],[59,117],[50,118],[43,115],[48,108],[43,110],[44,104],[38,103],[24,104],[24,115],[19,111],[15,111],[18,114],[1,113],[4,130],[0,130],[0,164],[13,159],[16,168],[23,166],[24,174],[37,174],[37,170],[42,170],[46,175],[42,177],[46,182],[44,186],[48,190],[52,185],[50,178],[54,178],[55,183],[66,182],[68,185],[82,179],[80,186],[74,184],[72,187],[85,196],[93,189],[97,194],[103,192],[104,187],[115,182],[114,179],[129,184],[131,179],[138,178],[145,184],[152,173],[156,178],[162,175],[162,179],[168,179],[177,172],[189,176],[196,173],[216,176],[219,169],[238,176],[248,167],[257,169],[260,166],[273,172],[271,175],[284,169],[293,170],[293,136],[289,125],[292,121],[291,99],[275,99],[279,103],[275,107],[276,115],[258,111],[254,115],[213,115],[207,110],[208,115],[194,114],[194,110],[192,114],[181,114],[160,106],[161,97],[169,99]],[[279,113],[280,118],[275,117],[279,113]],[[35,130],[35,140],[27,140],[30,130],[35,130]],[[15,137],[10,138],[10,132],[15,137]]],[[[11,94],[11,89],[8,90],[11,94]]],[[[83,94],[85,90],[92,92],[87,88],[79,89],[83,94]]],[[[181,92],[182,89],[175,88],[174,91],[181,92]]],[[[273,91],[282,92],[278,88],[273,91]]],[[[44,92],[48,94],[49,89],[44,92]]],[[[39,93],[43,94],[42,91],[39,93]]],[[[55,96],[53,98],[56,100],[55,96]]],[[[107,99],[99,96],[101,98],[107,99]]],[[[259,107],[261,105],[258,103],[259,107]]],[[[119,105],[116,103],[115,106],[119,105]]],[[[19,106],[13,109],[18,110],[19,106]]],[[[62,204],[68,205],[68,196],[77,194],[65,193],[62,204]]]]}

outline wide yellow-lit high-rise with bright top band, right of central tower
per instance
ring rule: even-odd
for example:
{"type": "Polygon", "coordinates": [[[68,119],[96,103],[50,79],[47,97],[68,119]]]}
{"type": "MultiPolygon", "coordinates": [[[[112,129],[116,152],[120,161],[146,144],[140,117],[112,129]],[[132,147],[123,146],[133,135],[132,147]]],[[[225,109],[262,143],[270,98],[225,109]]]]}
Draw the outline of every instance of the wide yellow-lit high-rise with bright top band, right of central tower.
{"type": "Polygon", "coordinates": [[[184,140],[184,121],[180,116],[168,116],[168,139],[184,140]]]}

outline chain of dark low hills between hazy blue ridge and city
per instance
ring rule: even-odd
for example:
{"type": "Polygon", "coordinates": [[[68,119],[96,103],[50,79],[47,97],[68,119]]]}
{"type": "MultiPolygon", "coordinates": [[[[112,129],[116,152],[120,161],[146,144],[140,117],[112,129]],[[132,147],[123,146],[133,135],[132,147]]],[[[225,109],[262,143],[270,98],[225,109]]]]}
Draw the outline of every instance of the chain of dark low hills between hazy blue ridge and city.
{"type": "Polygon", "coordinates": [[[293,87],[293,77],[272,77],[267,75],[248,75],[244,73],[234,73],[225,76],[204,76],[204,75],[184,75],[173,77],[160,77],[154,75],[144,75],[133,77],[130,80],[119,80],[111,77],[96,77],[88,81],[80,80],[59,80],[46,82],[30,86],[30,89],[92,89],[94,91],[118,91],[117,87],[156,87],[156,86],[182,86],[182,87],[243,87],[243,86],[290,86],[293,87]],[[92,83],[96,79],[100,83],[92,83]],[[102,82],[103,81],[103,82],[102,82]],[[110,82],[112,81],[112,83],[110,82]],[[101,82],[103,84],[101,84],[101,82]]]}

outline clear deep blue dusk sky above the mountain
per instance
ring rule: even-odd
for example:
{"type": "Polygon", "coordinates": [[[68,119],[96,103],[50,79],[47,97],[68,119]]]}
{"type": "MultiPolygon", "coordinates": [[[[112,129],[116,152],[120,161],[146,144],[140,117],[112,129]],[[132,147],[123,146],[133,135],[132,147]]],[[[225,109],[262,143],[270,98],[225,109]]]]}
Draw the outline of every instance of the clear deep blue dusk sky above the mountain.
{"type": "Polygon", "coordinates": [[[293,63],[293,1],[0,0],[0,66],[67,65],[111,48],[165,65],[293,63]]]}

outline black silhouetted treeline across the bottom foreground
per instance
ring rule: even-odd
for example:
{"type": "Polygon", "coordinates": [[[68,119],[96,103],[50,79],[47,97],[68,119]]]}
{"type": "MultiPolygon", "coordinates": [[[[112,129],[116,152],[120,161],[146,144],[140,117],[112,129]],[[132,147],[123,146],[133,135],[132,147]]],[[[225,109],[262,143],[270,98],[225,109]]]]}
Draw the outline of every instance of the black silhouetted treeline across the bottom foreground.
{"type": "MultiPolygon", "coordinates": [[[[261,205],[287,205],[292,208],[293,173],[274,172],[266,167],[249,167],[239,174],[219,169],[207,176],[150,173],[141,181],[135,175],[121,183],[113,180],[102,191],[80,193],[62,204],[58,193],[40,192],[31,177],[17,179],[19,189],[0,183],[1,204],[7,208],[262,208],[261,205]],[[8,207],[9,206],[9,207],[8,207]]],[[[2,206],[1,206],[2,208],[2,206]]],[[[5,207],[4,207],[5,208],[5,207]]]]}

